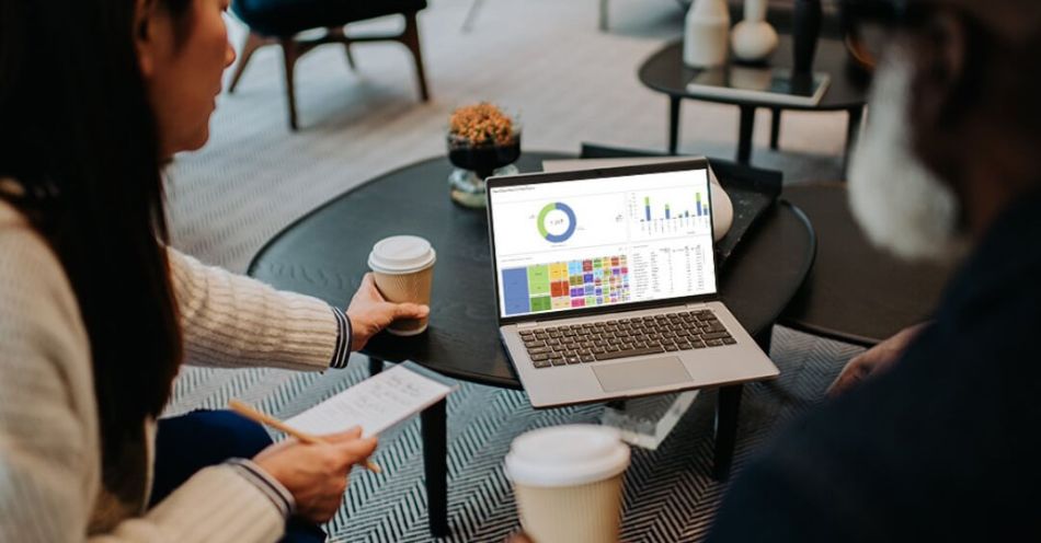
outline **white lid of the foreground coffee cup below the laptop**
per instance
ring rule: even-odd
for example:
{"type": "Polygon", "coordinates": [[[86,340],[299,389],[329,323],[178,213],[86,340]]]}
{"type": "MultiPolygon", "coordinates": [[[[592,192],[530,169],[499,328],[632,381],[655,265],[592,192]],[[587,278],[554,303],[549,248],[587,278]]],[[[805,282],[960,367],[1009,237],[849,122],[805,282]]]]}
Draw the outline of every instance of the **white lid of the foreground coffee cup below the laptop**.
{"type": "Polygon", "coordinates": [[[506,454],[506,476],[536,487],[561,487],[610,478],[629,466],[629,447],[614,428],[565,425],[520,435],[506,454]]]}

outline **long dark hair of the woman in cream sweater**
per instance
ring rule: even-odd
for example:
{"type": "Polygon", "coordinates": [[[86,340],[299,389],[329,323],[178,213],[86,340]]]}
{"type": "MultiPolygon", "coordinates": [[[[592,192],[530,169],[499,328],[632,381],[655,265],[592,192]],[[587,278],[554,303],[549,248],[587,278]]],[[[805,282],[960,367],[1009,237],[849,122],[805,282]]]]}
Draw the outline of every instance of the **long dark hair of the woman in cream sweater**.
{"type": "MultiPolygon", "coordinates": [[[[159,0],[184,16],[191,0],[159,0]]],[[[183,346],[135,0],[0,0],[2,196],[49,243],[90,338],[106,486],[170,397],[183,346]]]]}

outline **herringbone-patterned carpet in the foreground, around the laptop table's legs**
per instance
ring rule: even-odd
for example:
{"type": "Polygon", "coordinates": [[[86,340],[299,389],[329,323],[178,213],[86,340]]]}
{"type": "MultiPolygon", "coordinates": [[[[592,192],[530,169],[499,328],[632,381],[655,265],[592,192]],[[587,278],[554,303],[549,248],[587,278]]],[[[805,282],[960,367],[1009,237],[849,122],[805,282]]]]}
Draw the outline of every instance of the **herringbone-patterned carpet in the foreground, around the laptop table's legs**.
{"type": "MultiPolygon", "coordinates": [[[[735,469],[789,419],[817,402],[845,361],[859,351],[777,327],[773,358],[781,377],[745,388],[735,469]]],[[[363,357],[355,357],[346,370],[323,374],[188,368],[169,413],[220,408],[228,398],[239,397],[289,417],[367,376],[363,357]]],[[[597,423],[604,406],[536,411],[523,392],[459,384],[448,401],[453,536],[446,541],[505,541],[519,528],[513,490],[502,470],[510,442],[534,428],[597,423]]],[[[633,449],[626,475],[625,541],[699,541],[706,534],[723,492],[711,477],[714,400],[712,392],[700,394],[657,450],[633,449]]],[[[331,540],[430,541],[419,419],[384,435],[376,461],[384,473],[354,472],[346,502],[328,527],[331,540]]]]}

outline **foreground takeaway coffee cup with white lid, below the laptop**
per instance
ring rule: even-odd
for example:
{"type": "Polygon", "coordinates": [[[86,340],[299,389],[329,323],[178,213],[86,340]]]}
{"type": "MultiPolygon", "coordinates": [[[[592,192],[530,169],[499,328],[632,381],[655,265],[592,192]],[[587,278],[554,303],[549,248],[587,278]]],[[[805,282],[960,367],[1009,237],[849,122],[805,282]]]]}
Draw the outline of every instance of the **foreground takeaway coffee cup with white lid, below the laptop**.
{"type": "Polygon", "coordinates": [[[557,426],[514,439],[506,455],[525,533],[538,543],[618,541],[629,447],[613,428],[557,426]]]}

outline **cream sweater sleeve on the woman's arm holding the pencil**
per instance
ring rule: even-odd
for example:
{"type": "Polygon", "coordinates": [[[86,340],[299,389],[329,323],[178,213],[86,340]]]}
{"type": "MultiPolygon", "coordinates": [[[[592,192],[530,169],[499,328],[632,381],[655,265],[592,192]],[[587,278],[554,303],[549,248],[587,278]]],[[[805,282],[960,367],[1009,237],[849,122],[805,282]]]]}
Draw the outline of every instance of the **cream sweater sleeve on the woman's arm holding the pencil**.
{"type": "Polygon", "coordinates": [[[233,465],[203,470],[142,517],[88,536],[101,444],[87,332],[42,240],[0,223],[0,541],[277,541],[284,512],[233,465]]]}

